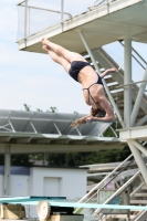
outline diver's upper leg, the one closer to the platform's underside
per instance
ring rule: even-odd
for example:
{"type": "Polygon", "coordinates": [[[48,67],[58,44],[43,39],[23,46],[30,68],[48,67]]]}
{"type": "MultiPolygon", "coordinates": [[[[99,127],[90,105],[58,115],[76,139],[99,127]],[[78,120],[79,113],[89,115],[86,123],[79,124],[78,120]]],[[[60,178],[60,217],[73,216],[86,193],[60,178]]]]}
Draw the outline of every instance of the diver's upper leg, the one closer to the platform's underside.
{"type": "Polygon", "coordinates": [[[46,39],[42,39],[42,44],[48,45],[51,50],[55,52],[55,54],[63,56],[66,61],[72,63],[73,61],[83,61],[86,62],[86,60],[78,53],[71,52],[63,46],[60,46],[59,44],[54,44],[51,41],[46,39]]]}

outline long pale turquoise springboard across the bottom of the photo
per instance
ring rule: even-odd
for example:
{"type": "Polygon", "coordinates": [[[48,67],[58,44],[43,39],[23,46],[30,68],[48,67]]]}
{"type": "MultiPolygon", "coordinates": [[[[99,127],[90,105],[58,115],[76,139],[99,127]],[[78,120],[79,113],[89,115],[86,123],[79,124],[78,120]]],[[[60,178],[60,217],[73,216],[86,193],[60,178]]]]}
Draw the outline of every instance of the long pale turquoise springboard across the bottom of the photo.
{"type": "Polygon", "coordinates": [[[51,207],[64,207],[64,208],[95,208],[95,209],[116,209],[116,210],[147,210],[147,206],[120,206],[120,204],[97,204],[97,203],[77,203],[74,201],[67,201],[66,199],[49,200],[48,198],[31,198],[31,197],[19,197],[19,198],[0,198],[0,203],[11,203],[11,204],[30,204],[38,206],[42,200],[49,201],[51,207]]]}

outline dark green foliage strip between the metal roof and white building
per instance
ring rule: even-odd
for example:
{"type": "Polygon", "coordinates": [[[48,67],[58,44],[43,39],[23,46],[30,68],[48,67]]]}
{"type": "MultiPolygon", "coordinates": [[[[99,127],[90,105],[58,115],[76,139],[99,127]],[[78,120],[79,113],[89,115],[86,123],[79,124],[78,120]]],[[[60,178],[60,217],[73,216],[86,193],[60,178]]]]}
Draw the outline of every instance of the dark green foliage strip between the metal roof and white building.
{"type": "Polygon", "coordinates": [[[49,154],[46,160],[49,166],[77,167],[80,165],[123,161],[129,155],[130,150],[126,146],[119,150],[101,150],[98,152],[49,154]]]}

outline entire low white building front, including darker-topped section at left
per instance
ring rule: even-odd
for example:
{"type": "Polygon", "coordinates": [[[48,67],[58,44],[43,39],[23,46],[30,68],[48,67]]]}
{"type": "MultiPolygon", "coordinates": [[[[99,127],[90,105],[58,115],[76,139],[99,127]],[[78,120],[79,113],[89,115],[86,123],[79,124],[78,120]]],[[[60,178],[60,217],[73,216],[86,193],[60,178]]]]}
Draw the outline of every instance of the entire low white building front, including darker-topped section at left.
{"type": "MultiPolygon", "coordinates": [[[[0,168],[0,196],[3,196],[3,167],[0,168]]],[[[10,196],[82,198],[86,193],[86,169],[11,167],[10,196]]]]}

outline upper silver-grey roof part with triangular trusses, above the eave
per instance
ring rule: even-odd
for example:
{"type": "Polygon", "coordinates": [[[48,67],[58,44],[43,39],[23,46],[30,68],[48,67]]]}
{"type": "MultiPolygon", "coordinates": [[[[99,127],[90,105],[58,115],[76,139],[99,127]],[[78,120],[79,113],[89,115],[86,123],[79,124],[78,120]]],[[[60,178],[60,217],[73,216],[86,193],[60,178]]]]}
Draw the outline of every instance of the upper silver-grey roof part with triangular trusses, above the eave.
{"type": "Polygon", "coordinates": [[[42,134],[44,136],[101,136],[109,124],[94,123],[71,130],[73,120],[86,114],[61,114],[22,110],[0,110],[0,136],[4,133],[42,134]]]}

